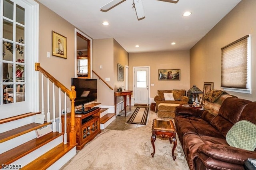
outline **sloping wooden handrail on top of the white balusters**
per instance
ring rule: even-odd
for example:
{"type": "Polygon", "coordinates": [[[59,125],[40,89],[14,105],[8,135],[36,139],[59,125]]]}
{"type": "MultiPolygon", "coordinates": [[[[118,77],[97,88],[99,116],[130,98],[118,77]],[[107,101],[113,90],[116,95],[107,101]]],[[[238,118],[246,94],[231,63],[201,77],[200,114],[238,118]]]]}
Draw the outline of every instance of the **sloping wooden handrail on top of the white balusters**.
{"type": "Polygon", "coordinates": [[[49,78],[50,81],[52,81],[57,87],[59,87],[62,91],[66,92],[69,97],[70,90],[66,88],[62,83],[60,83],[57,79],[52,77],[52,75],[50,75],[50,73],[48,73],[45,69],[43,69],[40,66],[40,63],[35,63],[35,70],[40,71],[45,77],[49,78]]]}

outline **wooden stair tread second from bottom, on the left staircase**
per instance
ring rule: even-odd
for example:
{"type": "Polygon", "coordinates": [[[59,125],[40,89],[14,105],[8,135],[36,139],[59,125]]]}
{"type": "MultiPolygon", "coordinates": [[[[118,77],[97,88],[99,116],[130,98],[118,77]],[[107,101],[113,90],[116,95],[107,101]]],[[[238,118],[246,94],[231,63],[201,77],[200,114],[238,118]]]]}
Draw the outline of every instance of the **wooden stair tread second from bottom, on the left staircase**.
{"type": "Polygon", "coordinates": [[[34,138],[24,144],[21,144],[15,148],[12,148],[2,154],[0,154],[0,164],[11,164],[12,162],[22,158],[30,152],[40,148],[44,144],[58,138],[63,133],[51,132],[40,138],[34,138]]]}

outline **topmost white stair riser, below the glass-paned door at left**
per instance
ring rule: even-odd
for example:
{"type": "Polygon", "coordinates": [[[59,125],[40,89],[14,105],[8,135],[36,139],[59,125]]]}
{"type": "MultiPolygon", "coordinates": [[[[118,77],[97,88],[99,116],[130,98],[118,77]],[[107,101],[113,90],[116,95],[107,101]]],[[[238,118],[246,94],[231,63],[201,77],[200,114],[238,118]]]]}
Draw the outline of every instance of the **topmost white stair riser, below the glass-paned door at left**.
{"type": "Polygon", "coordinates": [[[30,117],[24,117],[22,119],[7,122],[4,124],[0,124],[0,133],[6,132],[8,130],[12,130],[14,128],[22,127],[22,126],[28,125],[30,123],[34,123],[34,121],[35,121],[35,115],[30,116],[30,117]]]}

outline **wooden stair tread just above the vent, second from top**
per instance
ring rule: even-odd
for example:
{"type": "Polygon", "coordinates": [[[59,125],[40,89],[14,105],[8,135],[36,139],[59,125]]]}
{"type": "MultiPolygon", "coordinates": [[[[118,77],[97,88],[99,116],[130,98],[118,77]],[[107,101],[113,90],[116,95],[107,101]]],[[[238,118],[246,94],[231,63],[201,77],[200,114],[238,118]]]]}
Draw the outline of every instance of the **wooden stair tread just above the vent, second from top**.
{"type": "Polygon", "coordinates": [[[28,125],[24,125],[22,127],[14,128],[12,130],[8,130],[6,132],[0,133],[0,143],[5,142],[7,140],[10,140],[12,138],[16,138],[17,136],[20,136],[22,134],[28,133],[32,130],[36,130],[38,128],[44,127],[46,125],[50,125],[51,122],[47,123],[44,122],[44,124],[38,124],[38,123],[30,123],[28,125]]]}

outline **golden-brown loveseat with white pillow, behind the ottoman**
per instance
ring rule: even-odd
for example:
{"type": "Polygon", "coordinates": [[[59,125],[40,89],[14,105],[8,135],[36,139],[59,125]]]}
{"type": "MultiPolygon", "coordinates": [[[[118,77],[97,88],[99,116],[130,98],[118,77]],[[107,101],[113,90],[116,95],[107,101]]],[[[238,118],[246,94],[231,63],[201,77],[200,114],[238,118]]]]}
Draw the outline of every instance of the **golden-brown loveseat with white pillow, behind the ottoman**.
{"type": "Polygon", "coordinates": [[[173,104],[188,104],[188,97],[186,97],[186,90],[158,90],[157,95],[154,97],[156,102],[155,112],[158,111],[160,103],[173,103],[173,104]],[[164,93],[173,93],[174,101],[164,100],[164,93]]]}

